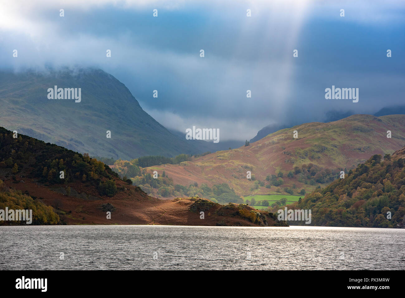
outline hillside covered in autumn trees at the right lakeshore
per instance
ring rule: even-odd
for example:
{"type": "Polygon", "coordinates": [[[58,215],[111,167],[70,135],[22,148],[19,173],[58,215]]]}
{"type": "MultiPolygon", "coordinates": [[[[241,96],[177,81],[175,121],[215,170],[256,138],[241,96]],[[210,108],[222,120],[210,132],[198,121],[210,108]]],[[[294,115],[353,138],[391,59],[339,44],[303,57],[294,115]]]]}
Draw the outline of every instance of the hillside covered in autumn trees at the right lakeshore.
{"type": "Polygon", "coordinates": [[[405,147],[392,156],[373,155],[344,179],[289,207],[311,209],[315,226],[404,228],[405,147]]]}

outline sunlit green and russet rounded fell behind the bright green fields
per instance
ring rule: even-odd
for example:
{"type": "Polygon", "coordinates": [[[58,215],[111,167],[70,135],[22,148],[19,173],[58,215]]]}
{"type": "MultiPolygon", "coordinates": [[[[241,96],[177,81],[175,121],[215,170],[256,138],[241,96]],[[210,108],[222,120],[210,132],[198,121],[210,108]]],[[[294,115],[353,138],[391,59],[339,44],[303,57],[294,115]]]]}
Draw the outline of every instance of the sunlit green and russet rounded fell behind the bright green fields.
{"type": "Polygon", "coordinates": [[[341,170],[347,172],[371,155],[391,154],[404,144],[405,115],[353,115],[335,122],[286,128],[247,147],[147,170],[165,171],[174,185],[205,183],[212,187],[226,183],[239,196],[298,194],[301,189],[311,192],[332,182],[341,170]],[[293,137],[295,130],[298,138],[293,137]],[[387,138],[388,130],[392,138],[387,138]],[[247,171],[251,171],[252,179],[247,179],[247,171]]]}

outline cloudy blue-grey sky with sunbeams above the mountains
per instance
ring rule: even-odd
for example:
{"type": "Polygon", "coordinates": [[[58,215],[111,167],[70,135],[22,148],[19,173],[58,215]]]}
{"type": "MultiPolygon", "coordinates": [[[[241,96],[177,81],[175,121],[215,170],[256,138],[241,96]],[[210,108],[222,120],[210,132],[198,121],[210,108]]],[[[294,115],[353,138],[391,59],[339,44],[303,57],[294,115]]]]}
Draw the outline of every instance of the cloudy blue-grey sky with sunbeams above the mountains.
{"type": "Polygon", "coordinates": [[[219,128],[221,140],[249,140],[270,124],[324,121],[328,111],[373,114],[404,104],[404,48],[404,1],[0,6],[0,69],[101,68],[166,128],[219,128]],[[325,99],[332,85],[358,88],[359,101],[325,99]]]}

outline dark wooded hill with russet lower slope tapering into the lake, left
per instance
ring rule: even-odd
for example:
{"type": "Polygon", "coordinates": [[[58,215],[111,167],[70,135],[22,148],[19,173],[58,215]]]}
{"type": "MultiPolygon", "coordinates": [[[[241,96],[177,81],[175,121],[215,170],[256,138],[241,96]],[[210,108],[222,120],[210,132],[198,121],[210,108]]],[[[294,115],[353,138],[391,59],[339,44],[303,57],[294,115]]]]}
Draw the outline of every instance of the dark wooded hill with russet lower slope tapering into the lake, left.
{"type": "Polygon", "coordinates": [[[33,224],[287,226],[245,204],[159,200],[130,184],[88,154],[0,127],[0,207],[32,209],[33,224]]]}

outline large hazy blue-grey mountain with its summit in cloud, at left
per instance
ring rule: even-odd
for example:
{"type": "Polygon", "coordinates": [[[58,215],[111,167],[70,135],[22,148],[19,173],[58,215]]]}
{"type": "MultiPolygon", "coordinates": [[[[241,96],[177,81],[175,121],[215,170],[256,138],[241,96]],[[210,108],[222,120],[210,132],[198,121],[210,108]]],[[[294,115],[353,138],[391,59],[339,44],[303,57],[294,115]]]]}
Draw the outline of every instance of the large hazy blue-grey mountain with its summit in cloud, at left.
{"type": "Polygon", "coordinates": [[[123,83],[100,69],[0,72],[0,103],[1,126],[92,156],[205,152],[171,134],[143,111],[123,83]],[[48,99],[47,90],[55,85],[81,88],[81,101],[48,99]]]}

